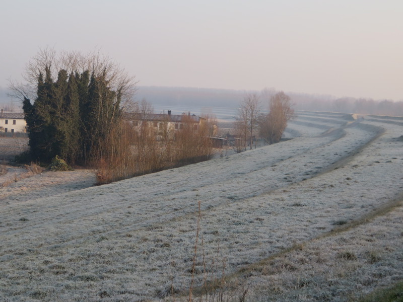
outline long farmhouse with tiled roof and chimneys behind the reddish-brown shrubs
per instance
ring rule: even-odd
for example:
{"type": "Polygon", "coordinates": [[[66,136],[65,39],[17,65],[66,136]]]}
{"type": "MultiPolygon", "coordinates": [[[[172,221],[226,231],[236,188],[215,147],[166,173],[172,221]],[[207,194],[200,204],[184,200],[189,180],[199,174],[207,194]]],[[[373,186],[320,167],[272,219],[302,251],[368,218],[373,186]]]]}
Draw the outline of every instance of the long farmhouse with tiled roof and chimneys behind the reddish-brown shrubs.
{"type": "Polygon", "coordinates": [[[171,110],[168,110],[168,114],[132,114],[127,120],[138,131],[141,129],[153,131],[157,139],[164,136],[174,139],[175,132],[184,128],[197,131],[206,122],[203,117],[190,115],[190,111],[186,115],[185,113],[171,114],[171,110]]]}

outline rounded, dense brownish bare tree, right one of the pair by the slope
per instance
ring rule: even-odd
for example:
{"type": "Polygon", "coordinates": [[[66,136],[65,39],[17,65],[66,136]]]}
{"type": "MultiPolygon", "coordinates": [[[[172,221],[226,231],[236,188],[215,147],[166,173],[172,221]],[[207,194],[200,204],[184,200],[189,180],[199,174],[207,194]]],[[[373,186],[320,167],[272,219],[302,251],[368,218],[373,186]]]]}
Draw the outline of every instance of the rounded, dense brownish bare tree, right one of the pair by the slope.
{"type": "Polygon", "coordinates": [[[287,122],[295,117],[290,101],[290,97],[281,91],[270,98],[268,114],[260,115],[259,134],[268,143],[280,141],[287,122]]]}

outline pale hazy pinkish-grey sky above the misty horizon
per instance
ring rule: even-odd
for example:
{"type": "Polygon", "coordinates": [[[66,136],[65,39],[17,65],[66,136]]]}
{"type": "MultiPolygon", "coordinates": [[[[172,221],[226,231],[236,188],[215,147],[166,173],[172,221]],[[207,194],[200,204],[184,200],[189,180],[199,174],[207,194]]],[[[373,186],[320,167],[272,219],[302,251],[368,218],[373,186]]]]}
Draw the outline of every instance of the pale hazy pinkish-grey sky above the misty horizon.
{"type": "Polygon", "coordinates": [[[403,100],[402,0],[2,0],[0,87],[39,48],[95,48],[140,86],[403,100]]]}

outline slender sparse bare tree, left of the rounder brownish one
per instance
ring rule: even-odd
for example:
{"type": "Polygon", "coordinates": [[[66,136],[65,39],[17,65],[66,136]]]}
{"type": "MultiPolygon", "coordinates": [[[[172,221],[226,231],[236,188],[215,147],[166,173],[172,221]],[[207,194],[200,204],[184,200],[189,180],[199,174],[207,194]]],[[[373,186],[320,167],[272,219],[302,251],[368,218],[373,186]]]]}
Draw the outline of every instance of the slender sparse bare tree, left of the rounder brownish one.
{"type": "Polygon", "coordinates": [[[261,110],[260,105],[259,97],[256,94],[247,94],[238,108],[236,124],[245,150],[246,141],[249,141],[250,149],[252,149],[253,135],[258,126],[257,118],[261,110]]]}

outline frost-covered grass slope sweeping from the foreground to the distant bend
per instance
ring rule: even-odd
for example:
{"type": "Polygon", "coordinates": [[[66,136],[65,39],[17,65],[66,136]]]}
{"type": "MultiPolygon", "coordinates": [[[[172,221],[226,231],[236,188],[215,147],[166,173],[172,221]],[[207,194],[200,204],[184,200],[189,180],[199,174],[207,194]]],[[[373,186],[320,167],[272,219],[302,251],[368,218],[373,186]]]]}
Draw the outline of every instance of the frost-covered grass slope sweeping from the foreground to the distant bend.
{"type": "Polygon", "coordinates": [[[180,299],[193,260],[195,291],[224,271],[247,300],[390,284],[403,278],[401,204],[353,223],[401,198],[402,132],[398,118],[300,112],[293,139],[230,157],[71,192],[64,173],[61,187],[45,173],[0,188],[0,297],[180,299]]]}

